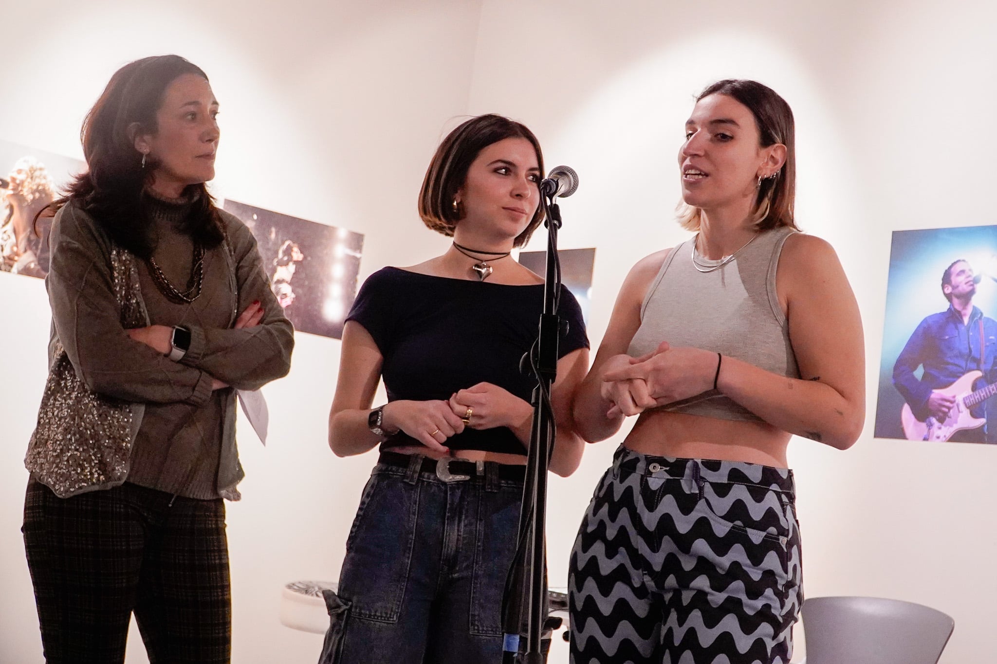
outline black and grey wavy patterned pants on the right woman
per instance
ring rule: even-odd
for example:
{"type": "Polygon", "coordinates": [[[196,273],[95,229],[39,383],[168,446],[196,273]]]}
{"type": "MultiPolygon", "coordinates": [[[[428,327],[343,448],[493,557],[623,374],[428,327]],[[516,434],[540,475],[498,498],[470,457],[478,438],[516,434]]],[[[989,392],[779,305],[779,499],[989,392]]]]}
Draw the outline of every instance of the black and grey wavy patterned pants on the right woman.
{"type": "Polygon", "coordinates": [[[619,448],[571,552],[572,664],[787,664],[794,498],[790,470],[619,448]]]}

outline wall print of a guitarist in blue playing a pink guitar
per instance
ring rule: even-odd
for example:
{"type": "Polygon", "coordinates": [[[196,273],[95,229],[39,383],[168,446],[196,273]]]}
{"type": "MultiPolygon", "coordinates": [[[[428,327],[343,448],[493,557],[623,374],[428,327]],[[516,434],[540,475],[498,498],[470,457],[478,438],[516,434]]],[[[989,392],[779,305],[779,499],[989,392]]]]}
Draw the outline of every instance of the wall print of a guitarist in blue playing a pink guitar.
{"type": "Polygon", "coordinates": [[[875,436],[997,443],[997,226],[894,231],[875,436]]]}

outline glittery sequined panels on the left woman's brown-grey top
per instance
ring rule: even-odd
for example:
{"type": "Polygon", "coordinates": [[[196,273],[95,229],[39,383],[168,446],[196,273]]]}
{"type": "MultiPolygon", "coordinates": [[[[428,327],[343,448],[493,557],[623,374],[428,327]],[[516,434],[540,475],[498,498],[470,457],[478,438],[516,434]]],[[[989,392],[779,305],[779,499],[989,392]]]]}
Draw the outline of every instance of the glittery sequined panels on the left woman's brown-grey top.
{"type": "MultiPolygon", "coordinates": [[[[113,247],[111,271],[122,327],[148,326],[133,255],[113,247]]],[[[58,336],[52,343],[52,364],[24,465],[60,498],[118,486],[128,477],[132,442],[145,405],[91,390],[58,336]]]]}

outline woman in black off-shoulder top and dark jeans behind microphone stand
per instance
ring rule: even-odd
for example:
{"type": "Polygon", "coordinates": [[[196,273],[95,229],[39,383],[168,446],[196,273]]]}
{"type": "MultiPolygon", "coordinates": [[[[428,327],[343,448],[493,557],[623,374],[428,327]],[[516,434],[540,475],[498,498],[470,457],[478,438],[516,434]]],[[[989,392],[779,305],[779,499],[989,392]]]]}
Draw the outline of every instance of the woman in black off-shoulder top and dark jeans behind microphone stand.
{"type": "MultiPolygon", "coordinates": [[[[534,382],[519,358],[536,334],[541,280],[509,257],[541,221],[539,144],[522,124],[472,118],[441,143],[419,212],[454,238],[442,256],[385,268],[343,331],[329,445],[381,453],[346,543],[321,661],[498,662],[534,382]],[[388,403],[371,410],[380,378],[388,403]]],[[[550,468],[581,457],[570,400],[588,364],[566,290],[550,468]]]]}

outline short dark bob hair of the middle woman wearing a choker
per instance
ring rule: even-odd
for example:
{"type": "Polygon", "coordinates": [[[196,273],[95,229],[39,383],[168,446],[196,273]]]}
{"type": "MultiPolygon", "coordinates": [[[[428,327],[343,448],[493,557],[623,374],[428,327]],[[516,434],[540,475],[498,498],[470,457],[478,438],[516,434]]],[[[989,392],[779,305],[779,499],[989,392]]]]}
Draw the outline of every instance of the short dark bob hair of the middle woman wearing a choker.
{"type": "MultiPolygon", "coordinates": [[[[505,138],[528,140],[536,150],[536,164],[540,172],[544,172],[540,143],[525,125],[494,113],[472,117],[447,134],[426,169],[423,188],[419,192],[419,216],[423,223],[447,237],[454,236],[454,229],[464,216],[462,206],[454,210],[454,198],[458,189],[464,186],[468,169],[483,149],[505,138]]],[[[543,206],[539,205],[529,225],[516,236],[512,246],[526,244],[542,221],[543,206]]]]}

